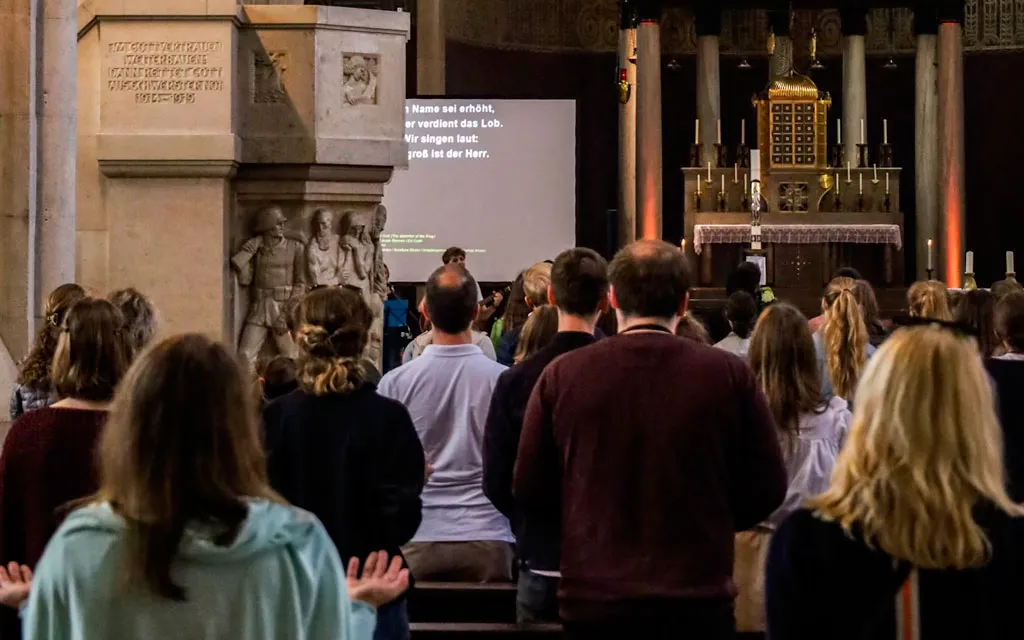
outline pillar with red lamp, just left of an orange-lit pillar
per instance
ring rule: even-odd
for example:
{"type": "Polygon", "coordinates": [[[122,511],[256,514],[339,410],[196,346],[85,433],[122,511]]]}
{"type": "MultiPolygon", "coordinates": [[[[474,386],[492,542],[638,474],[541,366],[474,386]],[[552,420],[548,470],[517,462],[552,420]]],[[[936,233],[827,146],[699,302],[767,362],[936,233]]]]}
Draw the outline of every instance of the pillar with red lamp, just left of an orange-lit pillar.
{"type": "Polygon", "coordinates": [[[637,239],[637,24],[628,0],[620,3],[618,72],[629,94],[618,102],[618,247],[637,239]]]}

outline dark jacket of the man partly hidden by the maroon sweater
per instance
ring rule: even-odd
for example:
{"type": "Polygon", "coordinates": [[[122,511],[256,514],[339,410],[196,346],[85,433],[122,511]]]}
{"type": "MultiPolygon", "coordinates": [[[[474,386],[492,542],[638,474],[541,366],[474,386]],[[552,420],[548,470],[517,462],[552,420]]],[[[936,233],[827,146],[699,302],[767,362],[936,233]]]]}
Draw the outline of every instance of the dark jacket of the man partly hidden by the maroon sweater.
{"type": "MultiPolygon", "coordinates": [[[[534,569],[558,570],[560,512],[524,514],[512,497],[512,471],[519,451],[522,417],[544,368],[559,355],[593,344],[594,340],[590,334],[559,333],[550,345],[503,373],[490,398],[483,434],[483,493],[512,523],[519,555],[534,569]]],[[[560,487],[552,486],[551,490],[557,493],[560,487]]]]}

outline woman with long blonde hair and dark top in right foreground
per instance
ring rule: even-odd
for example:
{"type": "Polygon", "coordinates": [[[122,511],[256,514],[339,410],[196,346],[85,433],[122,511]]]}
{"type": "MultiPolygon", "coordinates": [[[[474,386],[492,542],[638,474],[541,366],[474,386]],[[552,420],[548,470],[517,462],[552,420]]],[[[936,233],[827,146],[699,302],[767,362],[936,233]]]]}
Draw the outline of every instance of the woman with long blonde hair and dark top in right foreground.
{"type": "Polygon", "coordinates": [[[1004,469],[973,340],[897,331],[864,372],[828,489],[775,532],[770,637],[1018,635],[1024,508],[1004,469]]]}

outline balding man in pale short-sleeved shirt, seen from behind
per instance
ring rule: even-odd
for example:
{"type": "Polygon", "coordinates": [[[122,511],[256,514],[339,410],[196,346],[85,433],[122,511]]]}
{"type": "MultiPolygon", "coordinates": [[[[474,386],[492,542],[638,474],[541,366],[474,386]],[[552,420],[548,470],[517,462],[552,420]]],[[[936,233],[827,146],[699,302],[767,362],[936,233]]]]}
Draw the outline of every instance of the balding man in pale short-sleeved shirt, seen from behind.
{"type": "Polygon", "coordinates": [[[388,373],[378,391],[409,410],[433,474],[423,490],[423,522],[402,549],[414,577],[427,581],[512,579],[508,519],[483,495],[483,428],[505,368],[472,343],[476,283],[457,266],[427,281],[432,343],[388,373]]]}

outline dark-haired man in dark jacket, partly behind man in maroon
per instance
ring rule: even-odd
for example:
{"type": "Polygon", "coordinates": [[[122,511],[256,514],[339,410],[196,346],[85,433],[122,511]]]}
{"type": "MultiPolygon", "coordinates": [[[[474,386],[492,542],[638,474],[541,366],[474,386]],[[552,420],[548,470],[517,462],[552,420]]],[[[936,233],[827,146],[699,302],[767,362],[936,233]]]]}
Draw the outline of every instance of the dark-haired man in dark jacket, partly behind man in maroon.
{"type": "Polygon", "coordinates": [[[558,310],[554,341],[501,375],[483,436],[483,492],[513,524],[522,565],[516,596],[520,624],[558,620],[561,544],[557,509],[523,512],[512,495],[526,402],[544,369],[559,355],[594,343],[594,327],[608,308],[608,263],[591,249],[569,249],[551,268],[548,300],[558,310]]]}

